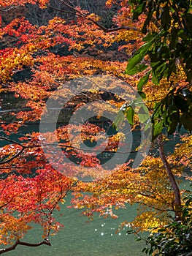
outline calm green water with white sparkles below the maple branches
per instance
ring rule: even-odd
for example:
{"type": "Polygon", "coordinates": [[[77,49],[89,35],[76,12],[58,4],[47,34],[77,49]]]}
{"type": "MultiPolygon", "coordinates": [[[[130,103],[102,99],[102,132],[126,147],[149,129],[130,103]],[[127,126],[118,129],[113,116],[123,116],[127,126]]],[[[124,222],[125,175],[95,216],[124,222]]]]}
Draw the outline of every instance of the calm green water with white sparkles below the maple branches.
{"type": "MultiPolygon", "coordinates": [[[[67,200],[69,203],[69,200],[67,200]]],[[[131,207],[118,211],[118,219],[95,217],[87,222],[81,216],[82,210],[62,208],[62,217],[58,217],[65,227],[56,235],[50,237],[52,246],[42,245],[37,248],[18,246],[15,251],[5,255],[10,256],[142,256],[143,244],[136,242],[133,235],[126,235],[126,229],[118,230],[120,222],[131,220],[136,214],[136,208],[131,207]]],[[[59,214],[58,214],[59,215],[59,214]]],[[[40,228],[28,233],[25,240],[40,241],[40,228]]]]}

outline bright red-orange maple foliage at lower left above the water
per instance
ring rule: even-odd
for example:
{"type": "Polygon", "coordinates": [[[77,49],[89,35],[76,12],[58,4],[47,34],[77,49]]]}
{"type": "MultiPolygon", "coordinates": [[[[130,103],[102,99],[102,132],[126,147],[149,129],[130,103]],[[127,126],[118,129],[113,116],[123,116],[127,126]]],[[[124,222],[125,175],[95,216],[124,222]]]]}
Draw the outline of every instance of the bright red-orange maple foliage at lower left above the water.
{"type": "Polygon", "coordinates": [[[1,179],[1,242],[23,238],[33,223],[42,225],[44,235],[58,223],[51,216],[72,186],[72,181],[54,170],[41,170],[34,178],[9,175],[1,179]],[[54,182],[53,182],[54,181],[54,182]],[[10,194],[9,191],[12,191],[10,194]]]}

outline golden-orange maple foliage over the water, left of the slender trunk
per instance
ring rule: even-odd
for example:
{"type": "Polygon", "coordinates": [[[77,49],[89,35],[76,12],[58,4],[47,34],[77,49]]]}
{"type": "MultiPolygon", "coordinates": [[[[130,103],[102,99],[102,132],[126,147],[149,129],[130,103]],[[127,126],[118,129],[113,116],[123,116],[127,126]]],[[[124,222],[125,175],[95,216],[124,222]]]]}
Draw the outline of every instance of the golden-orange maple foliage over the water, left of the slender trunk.
{"type": "MultiPolygon", "coordinates": [[[[127,168],[126,165],[124,167],[127,168]]],[[[125,208],[126,203],[140,203],[141,212],[132,225],[142,230],[166,222],[168,215],[161,214],[166,209],[172,209],[174,194],[169,187],[169,181],[166,180],[166,172],[161,159],[153,157],[147,157],[138,170],[127,168],[123,171],[122,168],[106,180],[84,184],[84,189],[92,192],[93,196],[83,197],[77,194],[72,202],[78,208],[85,207],[85,215],[88,217],[98,211],[102,216],[113,216],[112,206],[125,208]],[[147,206],[150,206],[151,211],[147,211],[147,206]],[[155,208],[158,208],[158,211],[155,211],[155,208]],[[152,221],[154,219],[155,222],[152,221]]]]}

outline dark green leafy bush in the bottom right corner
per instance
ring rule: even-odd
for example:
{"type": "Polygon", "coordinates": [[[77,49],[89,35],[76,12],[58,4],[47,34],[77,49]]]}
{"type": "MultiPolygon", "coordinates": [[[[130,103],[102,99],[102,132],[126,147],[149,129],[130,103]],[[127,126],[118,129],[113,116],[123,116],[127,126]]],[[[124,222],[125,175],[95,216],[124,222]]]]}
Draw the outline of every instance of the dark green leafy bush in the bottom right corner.
{"type": "Polygon", "coordinates": [[[183,221],[174,221],[159,228],[157,233],[151,233],[146,239],[147,247],[142,252],[155,256],[181,256],[192,252],[191,203],[192,195],[189,195],[185,198],[183,221]]]}

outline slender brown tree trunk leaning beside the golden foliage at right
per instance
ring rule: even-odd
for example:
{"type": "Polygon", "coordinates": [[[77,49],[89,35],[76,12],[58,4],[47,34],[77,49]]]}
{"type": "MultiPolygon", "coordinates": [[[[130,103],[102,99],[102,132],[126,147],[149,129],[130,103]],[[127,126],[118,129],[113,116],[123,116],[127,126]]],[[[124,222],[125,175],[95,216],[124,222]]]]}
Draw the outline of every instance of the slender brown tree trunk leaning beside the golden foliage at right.
{"type": "Polygon", "coordinates": [[[164,144],[163,144],[163,136],[162,134],[158,136],[157,138],[158,142],[158,150],[159,155],[161,157],[161,160],[164,164],[164,167],[166,169],[166,173],[169,176],[169,181],[172,185],[172,189],[174,190],[174,213],[175,213],[175,219],[180,220],[181,219],[181,199],[180,199],[180,189],[177,185],[177,182],[175,181],[174,175],[172,173],[172,168],[169,165],[169,162],[166,159],[166,155],[164,153],[164,144]]]}

